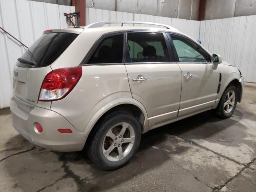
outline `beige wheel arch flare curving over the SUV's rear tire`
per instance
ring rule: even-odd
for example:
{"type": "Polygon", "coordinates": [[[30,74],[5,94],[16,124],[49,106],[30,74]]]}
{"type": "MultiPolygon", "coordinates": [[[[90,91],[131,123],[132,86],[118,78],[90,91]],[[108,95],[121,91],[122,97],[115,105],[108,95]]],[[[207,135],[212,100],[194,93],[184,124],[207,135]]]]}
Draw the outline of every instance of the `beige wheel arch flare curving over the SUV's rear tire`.
{"type": "Polygon", "coordinates": [[[133,98],[119,98],[119,99],[109,102],[108,104],[106,104],[105,106],[100,108],[96,112],[96,114],[94,114],[94,116],[88,122],[88,124],[84,130],[84,134],[85,134],[86,138],[90,134],[90,132],[91,132],[92,128],[94,127],[94,125],[96,124],[96,122],[100,119],[100,117],[102,117],[102,115],[104,115],[106,112],[108,112],[108,110],[114,108],[115,106],[121,105],[121,104],[132,104],[132,105],[135,105],[138,108],[140,108],[140,110],[142,111],[144,118],[145,118],[144,125],[143,125],[145,127],[145,125],[147,124],[147,121],[148,121],[148,114],[147,114],[144,106],[140,102],[138,102],[137,100],[135,100],[133,98]]]}

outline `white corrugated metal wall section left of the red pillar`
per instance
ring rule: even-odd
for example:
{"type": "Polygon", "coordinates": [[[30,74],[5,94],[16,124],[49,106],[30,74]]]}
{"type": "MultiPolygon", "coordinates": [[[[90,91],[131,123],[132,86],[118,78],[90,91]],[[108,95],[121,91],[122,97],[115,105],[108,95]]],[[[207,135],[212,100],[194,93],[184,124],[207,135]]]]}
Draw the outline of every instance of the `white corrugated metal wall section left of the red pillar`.
{"type": "MultiPolygon", "coordinates": [[[[44,30],[66,27],[64,12],[75,12],[75,8],[27,0],[0,0],[0,26],[30,46],[44,30]]],[[[9,106],[12,68],[24,51],[23,46],[0,30],[0,108],[9,106]]]]}

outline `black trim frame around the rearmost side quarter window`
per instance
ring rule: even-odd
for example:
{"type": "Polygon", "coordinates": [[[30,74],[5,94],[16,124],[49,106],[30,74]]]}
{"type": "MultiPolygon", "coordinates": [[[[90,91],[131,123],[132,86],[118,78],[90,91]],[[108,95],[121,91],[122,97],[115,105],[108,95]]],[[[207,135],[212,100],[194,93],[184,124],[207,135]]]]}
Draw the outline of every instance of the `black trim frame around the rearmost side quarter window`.
{"type": "Polygon", "coordinates": [[[108,33],[103,34],[98,37],[98,39],[95,41],[93,46],[90,48],[82,62],[79,64],[79,66],[102,66],[102,65],[124,65],[124,48],[125,48],[125,32],[114,32],[114,33],[108,33]],[[98,46],[102,43],[102,41],[108,37],[116,36],[116,35],[123,35],[123,55],[122,55],[122,62],[121,63],[90,63],[88,64],[88,61],[94,54],[95,50],[98,48],[98,46]]]}

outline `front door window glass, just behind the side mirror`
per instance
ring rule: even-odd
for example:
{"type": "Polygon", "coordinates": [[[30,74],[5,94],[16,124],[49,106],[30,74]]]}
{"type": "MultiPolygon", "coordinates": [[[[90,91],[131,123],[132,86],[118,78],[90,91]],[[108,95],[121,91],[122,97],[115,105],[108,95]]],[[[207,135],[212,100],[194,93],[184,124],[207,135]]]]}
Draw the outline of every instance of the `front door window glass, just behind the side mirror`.
{"type": "Polygon", "coordinates": [[[210,55],[194,42],[170,34],[180,62],[211,62],[210,55]]]}

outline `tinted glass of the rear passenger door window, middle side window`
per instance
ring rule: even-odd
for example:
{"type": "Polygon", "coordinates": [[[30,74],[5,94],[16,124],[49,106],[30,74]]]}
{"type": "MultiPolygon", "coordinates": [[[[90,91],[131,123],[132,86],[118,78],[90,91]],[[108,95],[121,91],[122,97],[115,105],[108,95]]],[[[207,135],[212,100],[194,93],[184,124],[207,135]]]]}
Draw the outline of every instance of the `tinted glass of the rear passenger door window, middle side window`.
{"type": "Polygon", "coordinates": [[[132,62],[170,62],[164,35],[155,32],[127,34],[132,62]]]}

